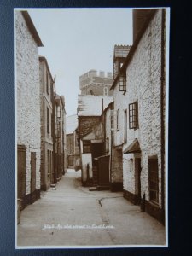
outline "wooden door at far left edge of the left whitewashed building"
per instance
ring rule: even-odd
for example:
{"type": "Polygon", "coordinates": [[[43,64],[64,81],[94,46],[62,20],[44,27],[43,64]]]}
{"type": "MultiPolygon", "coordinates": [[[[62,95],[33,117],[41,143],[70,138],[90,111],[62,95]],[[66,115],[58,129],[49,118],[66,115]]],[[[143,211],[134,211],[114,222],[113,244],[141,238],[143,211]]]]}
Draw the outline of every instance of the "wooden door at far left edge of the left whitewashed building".
{"type": "Polygon", "coordinates": [[[26,195],[26,147],[17,147],[17,198],[21,199],[21,208],[25,207],[26,195]]]}

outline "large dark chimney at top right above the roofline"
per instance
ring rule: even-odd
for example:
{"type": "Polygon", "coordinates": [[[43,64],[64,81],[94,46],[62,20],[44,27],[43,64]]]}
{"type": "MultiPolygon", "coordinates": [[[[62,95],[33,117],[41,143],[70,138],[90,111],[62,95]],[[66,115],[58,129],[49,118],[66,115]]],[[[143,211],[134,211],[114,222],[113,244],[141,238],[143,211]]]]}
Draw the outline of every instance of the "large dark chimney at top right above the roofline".
{"type": "Polygon", "coordinates": [[[137,38],[138,32],[140,32],[145,20],[148,18],[148,14],[151,9],[133,9],[132,11],[132,21],[133,21],[133,42],[137,38]]]}

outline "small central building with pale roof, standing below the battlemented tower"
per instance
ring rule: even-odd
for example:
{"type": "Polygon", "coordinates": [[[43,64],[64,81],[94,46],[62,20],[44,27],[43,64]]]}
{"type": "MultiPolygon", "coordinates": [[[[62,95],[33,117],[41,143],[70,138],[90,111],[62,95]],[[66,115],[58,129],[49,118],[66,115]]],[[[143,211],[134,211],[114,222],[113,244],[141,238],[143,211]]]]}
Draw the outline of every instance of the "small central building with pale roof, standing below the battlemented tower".
{"type": "Polygon", "coordinates": [[[104,108],[113,101],[113,96],[78,96],[77,129],[82,166],[82,183],[90,185],[95,158],[103,154],[103,125],[101,115],[104,108]],[[93,104],[94,102],[94,104],[93,104]]]}

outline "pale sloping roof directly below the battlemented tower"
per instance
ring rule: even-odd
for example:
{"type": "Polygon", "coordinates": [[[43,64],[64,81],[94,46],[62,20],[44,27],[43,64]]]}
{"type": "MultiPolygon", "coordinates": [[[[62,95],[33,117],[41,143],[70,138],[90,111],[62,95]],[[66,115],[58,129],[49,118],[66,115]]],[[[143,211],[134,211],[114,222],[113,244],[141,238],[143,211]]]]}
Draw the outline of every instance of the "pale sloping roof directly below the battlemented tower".
{"type": "Polygon", "coordinates": [[[113,102],[113,96],[79,95],[78,116],[101,116],[102,99],[103,109],[107,108],[110,102],[113,102]]]}

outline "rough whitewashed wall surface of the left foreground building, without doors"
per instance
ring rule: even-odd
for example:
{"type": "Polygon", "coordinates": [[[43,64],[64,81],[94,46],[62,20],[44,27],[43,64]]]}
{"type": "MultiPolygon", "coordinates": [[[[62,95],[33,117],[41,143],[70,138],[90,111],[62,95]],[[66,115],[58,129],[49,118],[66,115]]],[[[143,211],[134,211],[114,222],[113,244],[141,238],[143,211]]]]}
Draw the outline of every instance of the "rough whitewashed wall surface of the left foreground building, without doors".
{"type": "Polygon", "coordinates": [[[31,192],[31,152],[36,152],[36,189],[40,189],[40,96],[38,45],[20,11],[15,12],[17,143],[26,146],[26,195],[31,192]]]}

